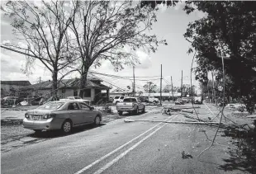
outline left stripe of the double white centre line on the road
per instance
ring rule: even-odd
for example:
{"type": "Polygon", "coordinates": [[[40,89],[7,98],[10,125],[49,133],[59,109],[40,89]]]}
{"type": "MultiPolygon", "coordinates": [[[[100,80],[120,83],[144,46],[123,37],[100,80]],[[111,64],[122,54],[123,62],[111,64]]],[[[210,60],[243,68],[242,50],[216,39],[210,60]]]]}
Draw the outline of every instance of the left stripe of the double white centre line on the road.
{"type": "MultiPolygon", "coordinates": [[[[169,116],[166,120],[170,119],[171,116],[169,116]]],[[[164,120],[164,121],[166,121],[164,120]]],[[[132,143],[133,141],[135,141],[136,139],[139,139],[141,136],[143,136],[144,134],[147,134],[150,130],[156,128],[157,126],[161,125],[163,123],[159,123],[158,125],[155,125],[154,127],[146,130],[144,133],[140,134],[139,136],[135,137],[134,139],[131,139],[130,141],[128,141],[127,143],[124,143],[123,145],[121,145],[119,148],[116,148],[115,150],[113,150],[111,153],[107,153],[107,155],[103,156],[102,158],[97,159],[95,162],[92,162],[90,165],[88,165],[87,167],[83,167],[83,169],[81,169],[78,172],[75,172],[74,174],[80,174],[83,173],[85,171],[87,171],[89,168],[91,168],[92,166],[94,166],[95,164],[97,164],[98,162],[101,162],[102,160],[104,160],[105,158],[108,158],[109,156],[111,156],[111,154],[116,153],[117,151],[119,151],[121,148],[124,148],[126,145],[132,143]]]]}

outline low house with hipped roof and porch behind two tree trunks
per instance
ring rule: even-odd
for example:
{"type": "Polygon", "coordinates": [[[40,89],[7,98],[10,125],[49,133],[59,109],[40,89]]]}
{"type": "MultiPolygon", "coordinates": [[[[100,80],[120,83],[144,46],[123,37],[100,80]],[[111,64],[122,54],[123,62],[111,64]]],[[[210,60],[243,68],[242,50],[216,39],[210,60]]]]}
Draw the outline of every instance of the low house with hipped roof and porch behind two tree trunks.
{"type": "MultiPolygon", "coordinates": [[[[23,87],[21,88],[21,91],[23,92],[23,94],[26,94],[27,97],[47,97],[51,94],[52,83],[52,81],[40,82],[31,86],[23,87]]],[[[57,96],[59,96],[59,98],[78,96],[79,85],[79,78],[63,79],[59,81],[57,96]]],[[[88,78],[85,84],[83,99],[94,102],[97,102],[99,100],[108,101],[109,89],[110,87],[102,84],[102,80],[99,80],[98,78],[88,78]],[[106,94],[102,94],[102,90],[106,91],[106,94]]]]}

